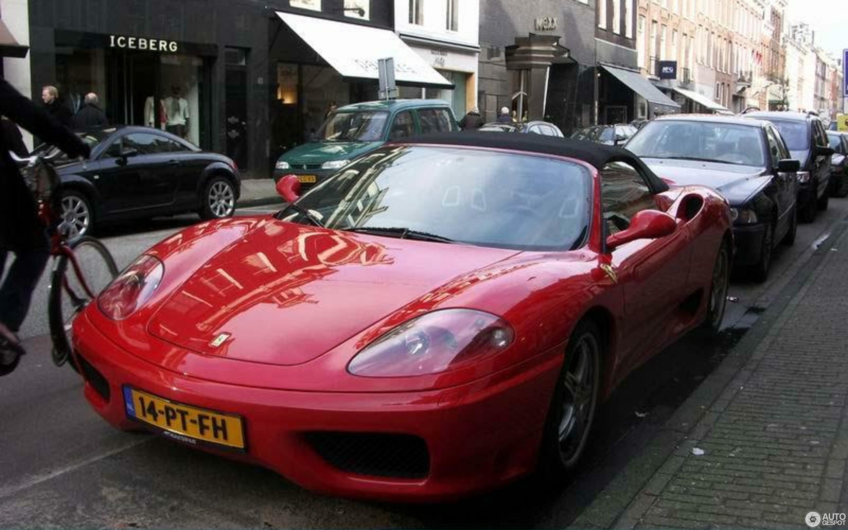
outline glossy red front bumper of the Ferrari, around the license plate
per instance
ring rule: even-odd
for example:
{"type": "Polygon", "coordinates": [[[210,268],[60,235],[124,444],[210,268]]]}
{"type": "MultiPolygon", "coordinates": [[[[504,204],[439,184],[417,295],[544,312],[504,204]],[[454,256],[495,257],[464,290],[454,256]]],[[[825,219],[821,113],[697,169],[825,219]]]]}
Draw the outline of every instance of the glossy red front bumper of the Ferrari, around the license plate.
{"type": "MultiPolygon", "coordinates": [[[[484,378],[410,393],[317,393],[209,382],[165,370],[118,346],[86,314],[75,321],[74,343],[75,354],[88,365],[83,370],[86,399],[114,427],[145,427],[126,415],[121,395],[128,385],[243,416],[245,452],[198,449],[271,468],[322,493],[390,501],[455,499],[533,471],[561,367],[561,356],[544,355],[544,362],[497,384],[484,378]],[[316,434],[328,432],[418,438],[426,444],[427,469],[416,477],[345,471],[315,444],[316,434]]],[[[386,458],[397,460],[397,451],[386,458]]]]}

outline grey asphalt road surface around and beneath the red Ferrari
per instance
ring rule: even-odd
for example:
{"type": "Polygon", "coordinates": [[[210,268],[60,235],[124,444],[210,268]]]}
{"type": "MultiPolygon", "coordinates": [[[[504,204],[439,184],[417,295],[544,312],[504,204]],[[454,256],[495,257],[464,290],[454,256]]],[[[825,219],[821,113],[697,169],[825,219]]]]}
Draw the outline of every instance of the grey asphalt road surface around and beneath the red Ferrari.
{"type": "MultiPolygon", "coordinates": [[[[846,215],[848,200],[831,200],[816,223],[799,226],[795,246],[775,255],[769,282],[734,282],[722,339],[684,338],[633,373],[600,408],[571,483],[539,491],[521,481],[450,505],[330,499],[271,471],[114,431],[86,405],[75,373],[50,363],[45,284],[22,330],[30,354],[0,379],[0,527],[565,527],[639,454],[846,215]]],[[[102,236],[122,267],[194,222],[153,220],[102,236]]]]}

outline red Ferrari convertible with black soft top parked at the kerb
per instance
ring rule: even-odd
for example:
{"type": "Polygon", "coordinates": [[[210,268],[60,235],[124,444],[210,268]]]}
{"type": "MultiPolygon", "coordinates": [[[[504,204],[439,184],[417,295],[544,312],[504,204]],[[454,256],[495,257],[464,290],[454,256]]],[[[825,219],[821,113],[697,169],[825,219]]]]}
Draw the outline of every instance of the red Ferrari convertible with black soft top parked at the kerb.
{"type": "Polygon", "coordinates": [[[451,499],[575,466],[628,371],[720,325],[732,248],[724,199],[622,149],[419,137],[155,245],[76,318],[75,359],[120,429],[451,499]]]}

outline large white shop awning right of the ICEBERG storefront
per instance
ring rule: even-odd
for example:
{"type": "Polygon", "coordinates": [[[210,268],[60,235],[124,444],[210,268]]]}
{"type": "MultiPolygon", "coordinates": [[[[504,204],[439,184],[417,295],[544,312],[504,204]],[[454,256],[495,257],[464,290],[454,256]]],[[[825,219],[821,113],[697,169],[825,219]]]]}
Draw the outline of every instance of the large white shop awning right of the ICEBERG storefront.
{"type": "Polygon", "coordinates": [[[342,77],[379,79],[379,59],[391,57],[399,85],[454,87],[392,31],[280,11],[276,14],[342,77]]]}

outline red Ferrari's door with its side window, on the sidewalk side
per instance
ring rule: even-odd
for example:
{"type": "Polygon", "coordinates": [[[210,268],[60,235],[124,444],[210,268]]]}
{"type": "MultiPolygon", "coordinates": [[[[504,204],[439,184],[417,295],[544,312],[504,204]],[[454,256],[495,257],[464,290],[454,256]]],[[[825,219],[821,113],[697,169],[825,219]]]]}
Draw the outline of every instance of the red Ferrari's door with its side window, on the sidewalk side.
{"type": "MultiPolygon", "coordinates": [[[[658,209],[644,177],[631,165],[606,165],[600,187],[606,236],[627,229],[637,212],[658,209]]],[[[674,314],[689,295],[689,239],[689,230],[679,223],[670,236],[637,239],[609,253],[624,299],[621,346],[626,362],[639,363],[654,352],[676,324],[674,314]]]]}

